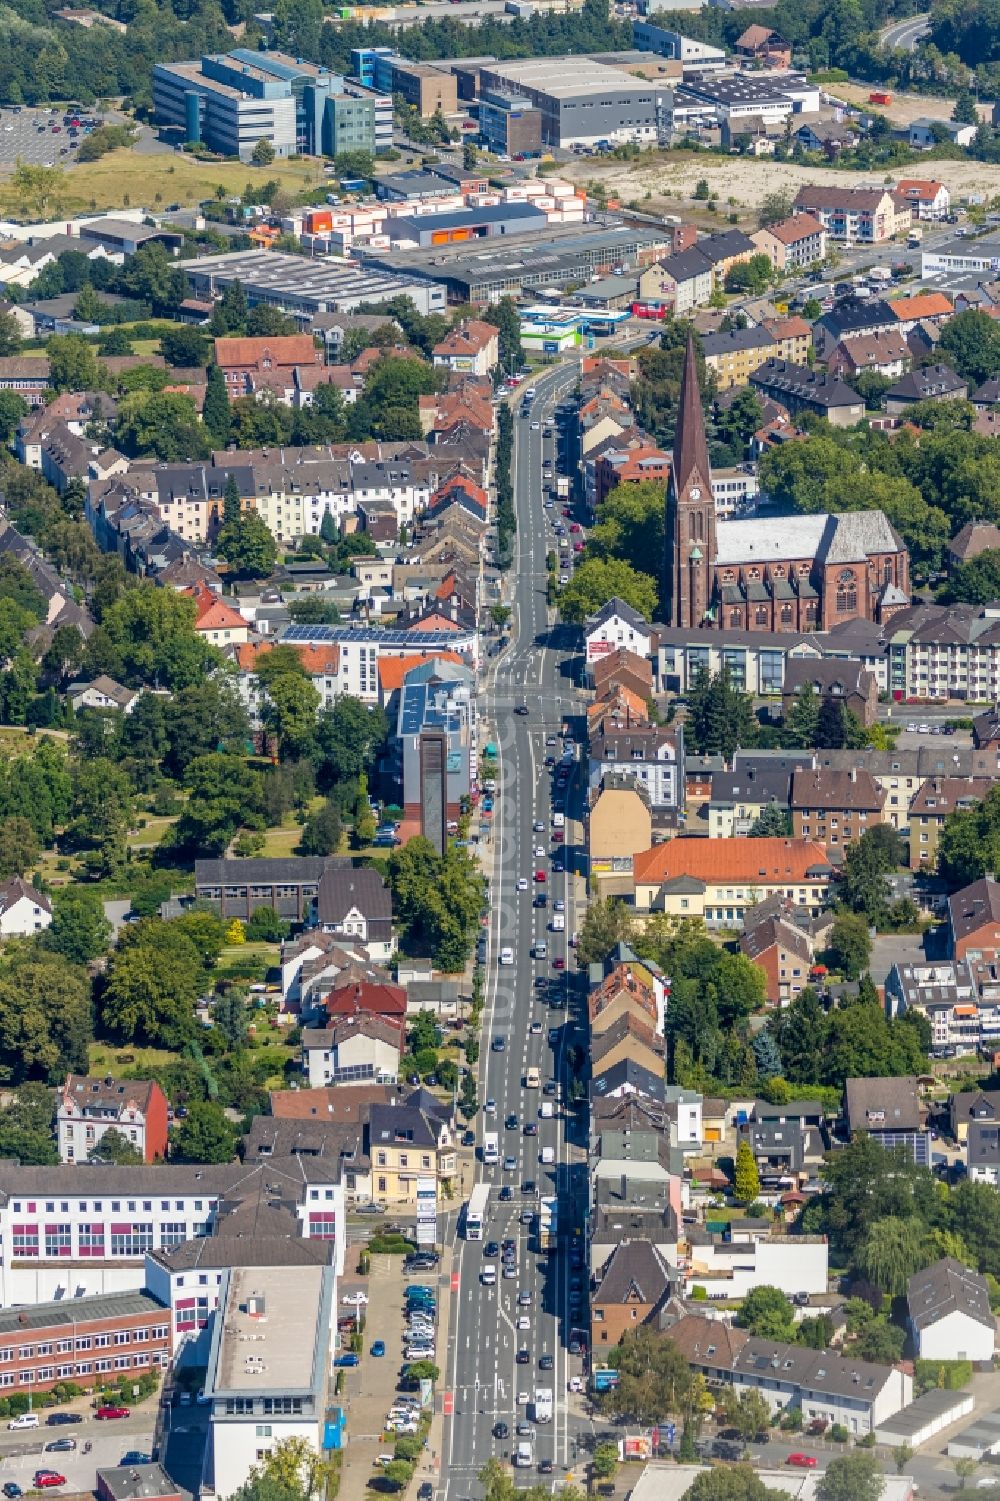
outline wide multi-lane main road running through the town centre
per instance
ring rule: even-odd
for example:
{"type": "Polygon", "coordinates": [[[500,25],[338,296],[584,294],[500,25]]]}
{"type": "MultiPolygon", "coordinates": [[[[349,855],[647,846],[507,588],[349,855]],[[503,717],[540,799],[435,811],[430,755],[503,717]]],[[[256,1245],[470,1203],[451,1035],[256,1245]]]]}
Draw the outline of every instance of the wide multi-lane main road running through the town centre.
{"type": "MultiPolygon", "coordinates": [[[[459,1240],[456,1247],[458,1295],[446,1366],[449,1396],[440,1477],[447,1501],[477,1493],[476,1474],[489,1457],[514,1456],[520,1438],[527,1436],[517,1433],[517,1424],[530,1420],[526,1394],[533,1396],[536,1387],[553,1388],[554,1417],[551,1423],[532,1424],[532,1466],[517,1469],[515,1475],[532,1483],[539,1474],[563,1478],[575,1456],[566,1393],[569,1376],[581,1369],[578,1357],[568,1351],[571,1297],[580,1295],[580,1288],[571,1288],[571,1282],[586,1279],[586,1273],[571,1265],[568,1237],[575,1220],[574,1193],[583,1187],[577,1175],[584,1171],[584,1159],[568,1141],[572,1109],[566,1085],[571,1031],[578,1022],[569,938],[578,923],[581,851],[569,817],[565,844],[553,839],[553,814],[572,812],[572,803],[566,809],[566,794],[556,791],[553,772],[545,766],[547,757],[562,761],[562,731],[575,707],[571,675],[575,633],[550,621],[545,599],[545,554],[554,542],[548,540],[542,465],[551,461],[556,468],[556,435],[547,419],[574,389],[577,375],[575,363],[547,371],[536,380],[530,417],[521,416],[520,401],[514,407],[517,533],[511,644],[488,672],[482,704],[489,738],[498,749],[500,788],[476,1163],[476,1180],[489,1183],[491,1195],[483,1240],[459,1240]],[[517,713],[524,707],[527,713],[517,713]],[[536,880],[536,872],[544,872],[545,880],[536,880]],[[536,905],[542,895],[545,907],[536,905]],[[565,929],[559,932],[551,929],[557,901],[565,904],[565,929]],[[547,944],[544,959],[533,958],[538,943],[547,944]],[[498,962],[503,949],[512,950],[512,964],[498,962]],[[529,1069],[539,1070],[542,1087],[526,1087],[529,1069]],[[554,1105],[551,1117],[541,1114],[547,1100],[554,1105]],[[486,1132],[500,1138],[495,1166],[482,1162],[486,1132]],[[511,1193],[502,1201],[505,1187],[511,1193]],[[554,1193],[560,1196],[563,1240],[557,1250],[544,1253],[538,1249],[539,1198],[554,1193]],[[500,1258],[483,1255],[491,1240],[508,1238],[517,1246],[517,1277],[502,1276],[500,1258]],[[480,1280],[485,1265],[497,1270],[492,1286],[480,1280]],[[505,1430],[498,1424],[506,1424],[506,1436],[500,1436],[505,1430]]],[[[578,763],[571,764],[574,799],[578,763]]],[[[577,1043],[583,1043],[583,1033],[577,1043]]]]}

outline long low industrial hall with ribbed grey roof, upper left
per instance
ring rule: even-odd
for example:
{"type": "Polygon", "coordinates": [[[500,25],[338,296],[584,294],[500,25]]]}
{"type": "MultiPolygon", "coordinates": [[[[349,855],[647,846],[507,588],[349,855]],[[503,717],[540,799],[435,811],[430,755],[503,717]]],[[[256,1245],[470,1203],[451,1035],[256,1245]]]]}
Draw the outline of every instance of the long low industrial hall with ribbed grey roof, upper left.
{"type": "Polygon", "coordinates": [[[423,278],[401,276],[392,270],[396,260],[392,257],[386,270],[369,270],[357,261],[306,260],[279,251],[230,251],[188,261],[185,270],[195,297],[221,297],[239,281],[251,308],[266,302],[299,317],[303,324],[317,312],[351,312],[362,303],[390,302],[401,294],[413,299],[417,312],[443,312],[444,291],[423,278]]]}

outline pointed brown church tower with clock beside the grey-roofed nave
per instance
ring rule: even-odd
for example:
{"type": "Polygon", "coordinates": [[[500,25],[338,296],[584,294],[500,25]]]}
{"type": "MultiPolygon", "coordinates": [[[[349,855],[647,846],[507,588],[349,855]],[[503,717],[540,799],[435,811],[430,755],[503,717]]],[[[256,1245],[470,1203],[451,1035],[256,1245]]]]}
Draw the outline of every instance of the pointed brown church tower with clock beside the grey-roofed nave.
{"type": "Polygon", "coordinates": [[[716,557],[712,467],[704,435],[694,335],[680,377],[677,431],[667,486],[664,615],[671,626],[700,626],[712,605],[716,557]]]}

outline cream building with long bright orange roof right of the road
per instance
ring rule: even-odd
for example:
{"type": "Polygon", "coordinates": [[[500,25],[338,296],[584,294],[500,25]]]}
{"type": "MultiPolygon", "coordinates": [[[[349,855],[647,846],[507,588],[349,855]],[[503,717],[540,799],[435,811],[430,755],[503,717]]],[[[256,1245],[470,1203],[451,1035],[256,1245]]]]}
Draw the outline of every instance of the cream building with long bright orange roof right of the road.
{"type": "Polygon", "coordinates": [[[710,928],[742,923],[773,892],[817,916],[832,877],[811,839],[671,839],[637,854],[632,869],[638,911],[704,917],[710,928]]]}

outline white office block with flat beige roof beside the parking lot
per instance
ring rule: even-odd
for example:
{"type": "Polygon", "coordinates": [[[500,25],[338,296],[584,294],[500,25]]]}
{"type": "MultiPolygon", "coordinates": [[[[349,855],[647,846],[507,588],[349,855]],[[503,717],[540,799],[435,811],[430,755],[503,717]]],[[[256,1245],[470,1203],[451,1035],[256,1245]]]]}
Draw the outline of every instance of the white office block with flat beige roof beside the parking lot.
{"type": "Polygon", "coordinates": [[[335,1327],[332,1267],[234,1267],[222,1274],[204,1381],[219,1501],[282,1441],[305,1439],[308,1450],[323,1453],[335,1327]]]}

